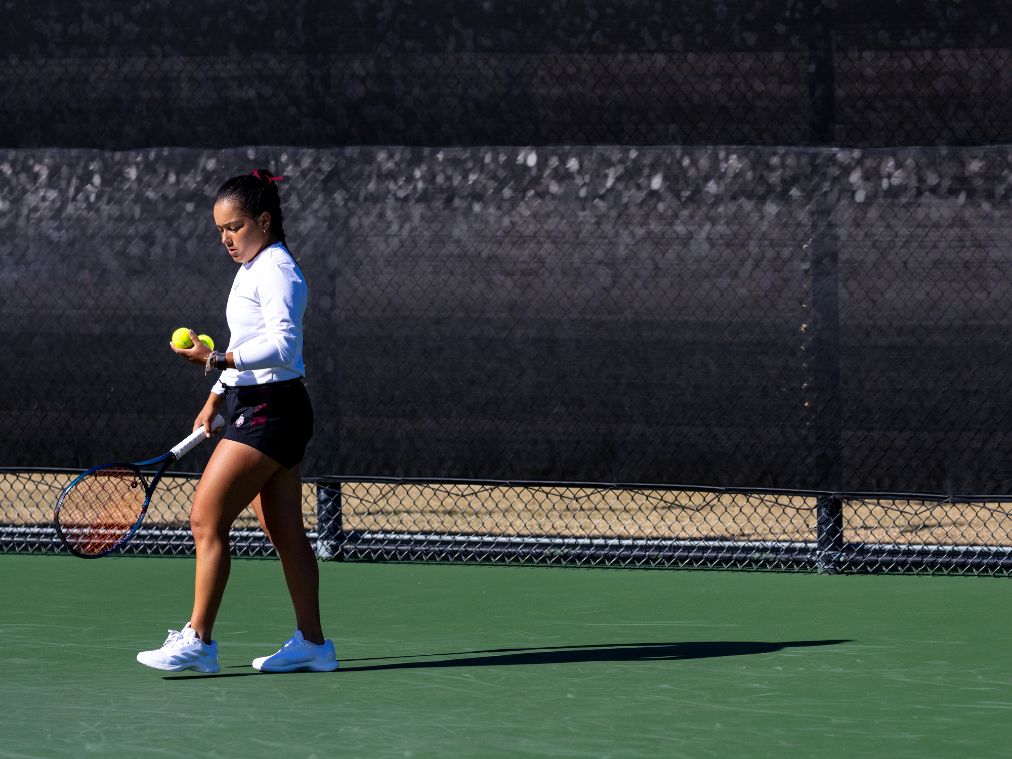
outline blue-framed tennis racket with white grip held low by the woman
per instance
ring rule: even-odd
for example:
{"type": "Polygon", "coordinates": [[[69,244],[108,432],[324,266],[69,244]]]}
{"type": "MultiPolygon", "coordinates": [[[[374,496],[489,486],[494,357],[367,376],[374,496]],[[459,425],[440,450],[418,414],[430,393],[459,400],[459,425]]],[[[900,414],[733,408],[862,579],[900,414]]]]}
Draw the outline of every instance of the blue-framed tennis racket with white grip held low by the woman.
{"type": "MultiPolygon", "coordinates": [[[[217,432],[224,425],[219,414],[212,429],[217,432]]],[[[204,438],[203,427],[198,427],[158,458],[95,467],[68,485],[53,515],[57,534],[67,551],[82,559],[97,559],[125,545],[144,521],[162,473],[204,438]],[[141,468],[155,463],[162,467],[148,485],[141,468]]]]}

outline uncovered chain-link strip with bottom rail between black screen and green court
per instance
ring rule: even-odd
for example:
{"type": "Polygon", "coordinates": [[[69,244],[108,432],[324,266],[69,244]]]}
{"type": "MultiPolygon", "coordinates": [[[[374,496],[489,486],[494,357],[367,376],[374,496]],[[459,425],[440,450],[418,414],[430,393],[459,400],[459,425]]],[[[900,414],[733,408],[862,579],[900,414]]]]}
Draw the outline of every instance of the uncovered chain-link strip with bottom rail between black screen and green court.
{"type": "MultiPolygon", "coordinates": [[[[51,525],[77,470],[0,471],[0,546],[60,553],[51,525]]],[[[189,555],[197,474],[163,480],[130,554],[189,555]]],[[[306,530],[325,560],[1012,572],[1012,499],[636,484],[308,478],[306,530]]],[[[244,512],[233,553],[273,546],[244,512]]]]}

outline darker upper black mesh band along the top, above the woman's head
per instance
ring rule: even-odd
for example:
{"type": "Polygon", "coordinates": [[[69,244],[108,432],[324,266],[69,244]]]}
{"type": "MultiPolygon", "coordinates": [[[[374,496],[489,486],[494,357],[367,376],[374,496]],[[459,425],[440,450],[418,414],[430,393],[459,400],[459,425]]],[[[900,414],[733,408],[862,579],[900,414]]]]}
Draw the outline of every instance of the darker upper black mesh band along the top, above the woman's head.
{"type": "Polygon", "coordinates": [[[1012,140],[1000,0],[9,6],[11,147],[1012,140]]]}

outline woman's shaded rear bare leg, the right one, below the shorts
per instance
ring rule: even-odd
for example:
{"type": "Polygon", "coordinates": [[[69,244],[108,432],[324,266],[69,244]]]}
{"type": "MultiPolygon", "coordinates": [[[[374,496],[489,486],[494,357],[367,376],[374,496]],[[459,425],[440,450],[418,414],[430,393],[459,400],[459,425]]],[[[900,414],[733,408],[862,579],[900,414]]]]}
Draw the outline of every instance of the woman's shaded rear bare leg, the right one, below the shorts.
{"type": "Polygon", "coordinates": [[[320,569],[303,525],[303,479],[299,466],[279,468],[253,501],[260,526],[281,558],[296,608],[296,626],[310,643],[324,643],[320,624],[320,569]]]}

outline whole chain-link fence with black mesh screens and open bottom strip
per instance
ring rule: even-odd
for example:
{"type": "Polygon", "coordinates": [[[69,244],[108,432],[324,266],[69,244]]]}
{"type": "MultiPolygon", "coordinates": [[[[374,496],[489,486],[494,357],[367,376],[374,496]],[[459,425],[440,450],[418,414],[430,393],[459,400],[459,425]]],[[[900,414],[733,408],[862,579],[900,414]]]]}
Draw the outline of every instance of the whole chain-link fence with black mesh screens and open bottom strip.
{"type": "Polygon", "coordinates": [[[31,468],[189,429],[165,342],[227,341],[209,198],[266,166],[324,555],[1004,571],[1012,16],[881,5],[7,8],[4,550],[31,468]]]}

